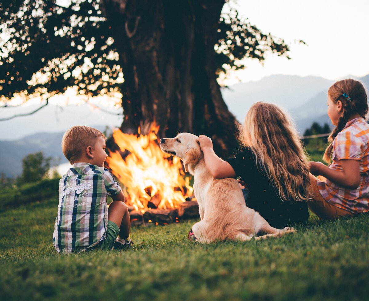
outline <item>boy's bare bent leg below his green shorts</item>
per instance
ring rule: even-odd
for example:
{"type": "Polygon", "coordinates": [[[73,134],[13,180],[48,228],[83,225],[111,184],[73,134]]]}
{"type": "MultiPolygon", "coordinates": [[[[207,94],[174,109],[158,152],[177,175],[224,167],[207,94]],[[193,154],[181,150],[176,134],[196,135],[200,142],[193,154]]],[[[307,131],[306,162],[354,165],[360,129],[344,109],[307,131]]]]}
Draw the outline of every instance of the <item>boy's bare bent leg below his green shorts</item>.
{"type": "Polygon", "coordinates": [[[131,219],[127,205],[121,201],[114,201],[108,209],[108,220],[113,221],[119,227],[119,237],[127,238],[130,236],[131,219]]]}

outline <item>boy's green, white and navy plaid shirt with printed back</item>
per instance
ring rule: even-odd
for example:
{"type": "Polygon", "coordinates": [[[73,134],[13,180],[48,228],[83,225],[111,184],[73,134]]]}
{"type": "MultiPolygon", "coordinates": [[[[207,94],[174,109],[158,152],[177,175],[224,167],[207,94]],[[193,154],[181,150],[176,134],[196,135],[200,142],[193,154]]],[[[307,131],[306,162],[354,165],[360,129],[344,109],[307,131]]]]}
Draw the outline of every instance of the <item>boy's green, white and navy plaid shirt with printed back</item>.
{"type": "Polygon", "coordinates": [[[107,195],[121,188],[104,167],[75,163],[59,182],[53,243],[58,253],[81,252],[106,237],[107,195]]]}

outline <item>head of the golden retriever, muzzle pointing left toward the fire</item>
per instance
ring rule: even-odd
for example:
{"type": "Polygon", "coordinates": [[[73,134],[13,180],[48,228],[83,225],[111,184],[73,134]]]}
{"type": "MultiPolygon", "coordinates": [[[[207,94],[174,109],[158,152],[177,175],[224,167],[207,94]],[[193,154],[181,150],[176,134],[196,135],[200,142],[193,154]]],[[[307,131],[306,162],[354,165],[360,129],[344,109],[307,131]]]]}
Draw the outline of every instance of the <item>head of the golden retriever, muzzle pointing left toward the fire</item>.
{"type": "Polygon", "coordinates": [[[160,139],[160,148],[164,153],[180,158],[184,170],[188,171],[189,164],[196,165],[203,158],[198,138],[190,133],[180,133],[174,138],[160,139]]]}

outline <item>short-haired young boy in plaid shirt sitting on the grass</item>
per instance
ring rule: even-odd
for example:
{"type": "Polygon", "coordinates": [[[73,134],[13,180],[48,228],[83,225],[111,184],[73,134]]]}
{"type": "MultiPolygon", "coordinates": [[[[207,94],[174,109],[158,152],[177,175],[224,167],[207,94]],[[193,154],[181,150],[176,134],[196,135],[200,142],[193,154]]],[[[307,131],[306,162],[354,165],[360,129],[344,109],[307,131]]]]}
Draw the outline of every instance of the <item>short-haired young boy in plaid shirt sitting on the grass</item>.
{"type": "Polygon", "coordinates": [[[104,134],[92,127],[73,126],[63,136],[62,150],[73,166],[59,183],[58,253],[132,248],[130,215],[122,189],[104,168],[105,148],[104,134]],[[109,209],[107,195],[114,201],[109,209]]]}

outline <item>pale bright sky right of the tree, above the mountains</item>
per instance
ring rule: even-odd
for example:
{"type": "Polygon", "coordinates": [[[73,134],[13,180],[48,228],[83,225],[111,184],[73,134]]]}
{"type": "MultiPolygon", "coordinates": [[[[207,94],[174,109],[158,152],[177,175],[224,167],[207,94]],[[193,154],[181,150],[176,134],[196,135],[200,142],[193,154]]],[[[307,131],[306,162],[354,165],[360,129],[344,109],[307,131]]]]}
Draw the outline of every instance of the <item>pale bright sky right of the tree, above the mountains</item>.
{"type": "Polygon", "coordinates": [[[368,0],[238,0],[239,13],[263,32],[283,38],[290,57],[269,55],[264,67],[248,60],[248,68],[230,76],[228,84],[260,80],[271,74],[321,76],[330,80],[369,73],[368,0]],[[303,40],[307,45],[294,41],[303,40]]]}

